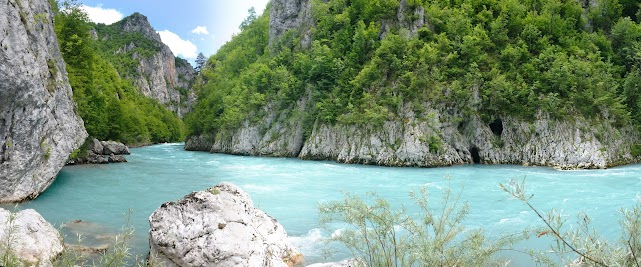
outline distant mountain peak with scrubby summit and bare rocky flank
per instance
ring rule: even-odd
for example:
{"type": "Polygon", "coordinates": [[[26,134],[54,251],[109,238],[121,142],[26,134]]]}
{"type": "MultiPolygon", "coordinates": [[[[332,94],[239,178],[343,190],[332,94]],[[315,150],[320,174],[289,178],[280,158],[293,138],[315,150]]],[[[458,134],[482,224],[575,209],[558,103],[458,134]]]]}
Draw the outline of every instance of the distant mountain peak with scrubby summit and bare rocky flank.
{"type": "Polygon", "coordinates": [[[147,17],[134,13],[112,25],[96,25],[96,39],[112,57],[133,60],[119,72],[134,81],[143,95],[158,100],[179,117],[191,110],[196,72],[186,60],[174,56],[147,17]]]}

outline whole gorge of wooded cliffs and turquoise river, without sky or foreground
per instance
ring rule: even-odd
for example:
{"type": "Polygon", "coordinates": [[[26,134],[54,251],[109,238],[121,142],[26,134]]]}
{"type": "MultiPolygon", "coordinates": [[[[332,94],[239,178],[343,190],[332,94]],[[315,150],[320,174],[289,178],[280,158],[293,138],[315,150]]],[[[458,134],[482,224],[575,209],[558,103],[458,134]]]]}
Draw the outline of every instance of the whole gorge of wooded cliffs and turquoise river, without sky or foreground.
{"type": "MultiPolygon", "coordinates": [[[[6,0],[0,203],[113,231],[133,209],[145,254],[154,210],[232,182],[309,264],[351,256],[336,244],[321,256],[344,226],[323,229],[317,205],[341,192],[400,206],[417,188],[438,200],[451,186],[471,205],[466,227],[495,237],[537,221],[497,187],[527,177],[538,208],[586,211],[614,240],[612,215],[638,202],[641,183],[634,4],[273,0],[197,74],[140,13],[104,25],[78,6],[6,0]],[[132,149],[127,164],[62,167],[93,138],[165,144],[132,149]]],[[[551,241],[539,238],[522,245],[551,241]]]]}

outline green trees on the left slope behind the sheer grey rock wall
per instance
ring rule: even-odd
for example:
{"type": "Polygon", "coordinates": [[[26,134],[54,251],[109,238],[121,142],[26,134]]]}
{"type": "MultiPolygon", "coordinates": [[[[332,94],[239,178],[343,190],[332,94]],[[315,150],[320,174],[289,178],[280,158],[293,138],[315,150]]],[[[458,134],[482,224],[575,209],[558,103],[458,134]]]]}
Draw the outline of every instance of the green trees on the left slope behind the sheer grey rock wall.
{"type": "Polygon", "coordinates": [[[151,56],[159,50],[142,34],[112,34],[110,39],[92,39],[91,30],[114,31],[115,26],[89,22],[74,2],[50,0],[55,13],[55,31],[73,89],[77,113],[89,136],[128,145],[181,141],[184,125],[176,114],[158,101],[143,96],[124,74],[135,71],[138,62],[130,54],[110,53],[110,46],[135,42],[135,51],[151,56]],[[64,11],[60,11],[60,10],[64,11]]]}

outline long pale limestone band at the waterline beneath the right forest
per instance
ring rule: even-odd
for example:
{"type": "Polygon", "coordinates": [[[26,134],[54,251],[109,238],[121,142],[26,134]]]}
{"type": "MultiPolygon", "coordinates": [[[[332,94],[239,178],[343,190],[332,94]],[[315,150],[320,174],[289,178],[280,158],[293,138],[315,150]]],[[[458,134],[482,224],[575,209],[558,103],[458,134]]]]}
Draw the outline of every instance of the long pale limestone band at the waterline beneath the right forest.
{"type": "Polygon", "coordinates": [[[302,121],[270,121],[267,116],[262,131],[261,124],[246,122],[214,138],[190,138],[185,147],[416,167],[483,163],[593,169],[639,161],[631,154],[632,145],[640,142],[634,129],[616,128],[607,121],[595,123],[577,117],[569,122],[539,115],[534,122],[505,117],[486,123],[478,116],[461,121],[456,114],[436,109],[428,114],[406,111],[383,125],[316,124],[307,137],[303,136],[302,121]]]}

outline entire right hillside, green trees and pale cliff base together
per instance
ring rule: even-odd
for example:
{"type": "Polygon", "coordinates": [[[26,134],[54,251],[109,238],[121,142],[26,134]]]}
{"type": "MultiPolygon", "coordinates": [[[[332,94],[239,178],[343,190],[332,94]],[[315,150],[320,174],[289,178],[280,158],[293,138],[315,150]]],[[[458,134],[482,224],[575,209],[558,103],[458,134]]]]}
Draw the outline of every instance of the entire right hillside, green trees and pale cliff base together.
{"type": "Polygon", "coordinates": [[[635,1],[269,8],[203,69],[188,149],[410,166],[638,160],[635,1]]]}

